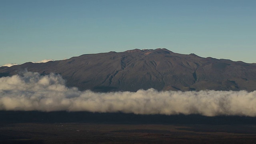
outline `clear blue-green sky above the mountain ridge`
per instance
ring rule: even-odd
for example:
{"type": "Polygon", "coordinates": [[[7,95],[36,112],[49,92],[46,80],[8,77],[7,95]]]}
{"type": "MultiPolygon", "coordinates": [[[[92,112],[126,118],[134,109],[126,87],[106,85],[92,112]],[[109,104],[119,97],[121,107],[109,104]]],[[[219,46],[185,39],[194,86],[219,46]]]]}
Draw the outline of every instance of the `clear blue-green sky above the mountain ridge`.
{"type": "Polygon", "coordinates": [[[256,0],[0,0],[0,66],[135,48],[256,63],[256,0]]]}

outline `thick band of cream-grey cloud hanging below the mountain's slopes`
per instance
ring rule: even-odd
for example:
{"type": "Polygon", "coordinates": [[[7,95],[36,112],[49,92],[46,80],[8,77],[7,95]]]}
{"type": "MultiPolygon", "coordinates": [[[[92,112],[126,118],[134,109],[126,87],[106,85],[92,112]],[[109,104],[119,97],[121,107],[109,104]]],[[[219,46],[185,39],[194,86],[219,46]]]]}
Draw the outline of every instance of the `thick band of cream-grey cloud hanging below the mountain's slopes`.
{"type": "Polygon", "coordinates": [[[256,116],[256,91],[82,92],[60,75],[25,72],[0,78],[0,110],[256,116]]]}

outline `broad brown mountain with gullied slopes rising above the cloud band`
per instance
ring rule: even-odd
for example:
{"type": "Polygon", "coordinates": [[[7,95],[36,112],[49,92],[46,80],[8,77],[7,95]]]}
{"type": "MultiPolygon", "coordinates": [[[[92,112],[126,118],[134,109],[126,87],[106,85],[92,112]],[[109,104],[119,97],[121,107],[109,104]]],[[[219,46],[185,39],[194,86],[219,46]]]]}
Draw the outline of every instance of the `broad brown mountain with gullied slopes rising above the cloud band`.
{"type": "Polygon", "coordinates": [[[60,74],[80,90],[256,90],[256,64],[177,54],[165,48],[84,54],[46,63],[0,67],[0,77],[30,72],[60,74]]]}

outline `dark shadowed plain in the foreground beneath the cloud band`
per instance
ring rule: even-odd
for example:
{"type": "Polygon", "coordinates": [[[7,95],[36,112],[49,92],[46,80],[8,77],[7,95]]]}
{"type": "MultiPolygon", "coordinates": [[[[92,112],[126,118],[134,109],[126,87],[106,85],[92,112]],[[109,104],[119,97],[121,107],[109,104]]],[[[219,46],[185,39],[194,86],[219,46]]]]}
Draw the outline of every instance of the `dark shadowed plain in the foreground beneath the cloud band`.
{"type": "Polygon", "coordinates": [[[253,144],[256,118],[0,111],[1,144],[253,144]]]}

